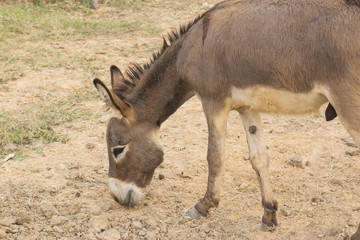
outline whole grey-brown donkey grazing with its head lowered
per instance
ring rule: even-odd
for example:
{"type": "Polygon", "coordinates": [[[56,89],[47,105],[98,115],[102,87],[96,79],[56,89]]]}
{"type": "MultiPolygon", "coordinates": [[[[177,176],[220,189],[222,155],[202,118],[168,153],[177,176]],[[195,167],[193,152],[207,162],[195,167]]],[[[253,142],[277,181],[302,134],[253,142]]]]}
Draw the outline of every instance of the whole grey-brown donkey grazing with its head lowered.
{"type": "Polygon", "coordinates": [[[197,95],[208,124],[209,176],[192,213],[220,201],[229,111],[242,119],[260,183],[267,226],[277,202],[260,112],[303,114],[329,102],[360,145],[360,3],[358,0],[230,0],[218,3],[164,39],[162,50],[123,75],[111,67],[109,90],[94,84],[114,116],[107,127],[109,188],[122,204],[142,197],[163,160],[160,125],[197,95]]]}

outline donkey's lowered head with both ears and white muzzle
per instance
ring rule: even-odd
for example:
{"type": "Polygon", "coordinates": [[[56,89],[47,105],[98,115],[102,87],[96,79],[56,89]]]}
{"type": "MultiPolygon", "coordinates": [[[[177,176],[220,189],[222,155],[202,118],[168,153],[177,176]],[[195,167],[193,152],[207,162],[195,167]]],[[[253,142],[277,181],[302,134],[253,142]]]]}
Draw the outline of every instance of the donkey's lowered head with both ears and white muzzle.
{"type": "MultiPolygon", "coordinates": [[[[112,88],[122,78],[120,70],[112,66],[112,88]]],[[[95,79],[94,84],[102,99],[113,110],[106,132],[110,194],[115,201],[134,206],[143,196],[140,189],[150,183],[155,168],[163,160],[158,141],[159,127],[137,121],[134,109],[123,96],[116,95],[99,79],[95,79]]]]}

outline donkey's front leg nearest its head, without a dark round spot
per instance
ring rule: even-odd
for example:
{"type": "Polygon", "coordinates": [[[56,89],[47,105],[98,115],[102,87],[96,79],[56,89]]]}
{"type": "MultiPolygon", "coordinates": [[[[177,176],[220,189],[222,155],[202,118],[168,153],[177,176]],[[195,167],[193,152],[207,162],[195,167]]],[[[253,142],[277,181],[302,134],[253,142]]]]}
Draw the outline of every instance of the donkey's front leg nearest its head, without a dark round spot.
{"type": "Polygon", "coordinates": [[[204,198],[195,206],[203,216],[207,216],[212,207],[220,202],[223,164],[225,160],[226,121],[231,107],[231,100],[202,101],[208,124],[208,152],[209,167],[208,185],[204,198]]]}

